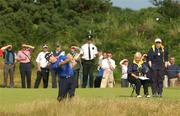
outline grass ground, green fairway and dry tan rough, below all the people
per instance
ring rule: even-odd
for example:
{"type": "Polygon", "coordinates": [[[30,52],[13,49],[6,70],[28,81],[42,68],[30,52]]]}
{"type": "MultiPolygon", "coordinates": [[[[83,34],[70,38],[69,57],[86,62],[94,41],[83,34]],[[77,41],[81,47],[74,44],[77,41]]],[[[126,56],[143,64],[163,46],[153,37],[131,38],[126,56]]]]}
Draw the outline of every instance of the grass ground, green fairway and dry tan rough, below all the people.
{"type": "MultiPolygon", "coordinates": [[[[0,116],[180,116],[180,88],[163,98],[129,97],[132,88],[77,89],[57,102],[57,89],[0,89],[0,116]]],[[[142,93],[142,92],[141,92],[142,93]]]]}

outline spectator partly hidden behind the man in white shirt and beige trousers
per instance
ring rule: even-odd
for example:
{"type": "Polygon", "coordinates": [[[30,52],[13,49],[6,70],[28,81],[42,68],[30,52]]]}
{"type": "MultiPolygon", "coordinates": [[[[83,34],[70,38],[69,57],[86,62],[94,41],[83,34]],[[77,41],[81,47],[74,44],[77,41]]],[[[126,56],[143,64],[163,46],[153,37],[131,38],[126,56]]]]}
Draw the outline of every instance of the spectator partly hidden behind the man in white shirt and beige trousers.
{"type": "Polygon", "coordinates": [[[94,80],[94,87],[99,88],[101,86],[101,80],[103,77],[104,70],[102,68],[102,60],[107,58],[107,53],[103,52],[99,54],[99,62],[98,62],[98,75],[96,79],[94,80]]]}

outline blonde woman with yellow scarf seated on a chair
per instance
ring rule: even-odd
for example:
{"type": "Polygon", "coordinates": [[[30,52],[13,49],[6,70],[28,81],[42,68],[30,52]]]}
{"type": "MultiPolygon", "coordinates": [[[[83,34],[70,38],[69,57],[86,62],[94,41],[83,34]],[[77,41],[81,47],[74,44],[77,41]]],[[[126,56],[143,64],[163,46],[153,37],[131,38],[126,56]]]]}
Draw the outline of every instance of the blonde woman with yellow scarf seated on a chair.
{"type": "Polygon", "coordinates": [[[147,72],[146,66],[142,61],[142,54],[140,52],[137,52],[134,55],[133,63],[128,65],[128,81],[132,84],[135,84],[136,94],[138,98],[142,97],[140,95],[141,85],[143,85],[145,97],[149,98],[150,95],[148,93],[148,80],[141,80],[139,78],[140,76],[146,77],[147,72]]]}

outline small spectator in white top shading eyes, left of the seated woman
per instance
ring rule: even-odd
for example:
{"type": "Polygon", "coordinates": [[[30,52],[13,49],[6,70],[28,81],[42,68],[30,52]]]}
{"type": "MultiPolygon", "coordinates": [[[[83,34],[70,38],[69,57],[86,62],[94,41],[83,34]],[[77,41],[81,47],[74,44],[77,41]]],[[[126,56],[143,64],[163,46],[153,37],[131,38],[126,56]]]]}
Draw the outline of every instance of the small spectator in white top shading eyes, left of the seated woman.
{"type": "Polygon", "coordinates": [[[129,81],[127,80],[128,59],[121,60],[119,64],[120,64],[121,70],[122,70],[121,87],[128,87],[129,86],[129,81]]]}

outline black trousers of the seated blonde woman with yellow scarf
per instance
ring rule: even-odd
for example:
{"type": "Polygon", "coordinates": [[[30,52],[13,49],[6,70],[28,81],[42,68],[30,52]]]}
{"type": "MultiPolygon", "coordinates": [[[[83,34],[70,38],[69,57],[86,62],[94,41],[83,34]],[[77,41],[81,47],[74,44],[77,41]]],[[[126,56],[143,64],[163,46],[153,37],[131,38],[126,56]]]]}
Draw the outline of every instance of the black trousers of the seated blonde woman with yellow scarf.
{"type": "Polygon", "coordinates": [[[136,79],[132,76],[128,77],[128,81],[131,84],[135,84],[136,86],[136,94],[140,95],[140,89],[141,89],[141,85],[143,85],[143,89],[144,89],[144,95],[148,95],[148,81],[147,80],[140,80],[140,79],[136,79]]]}

